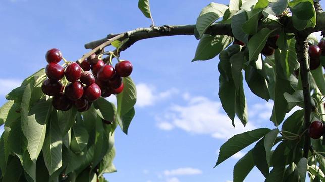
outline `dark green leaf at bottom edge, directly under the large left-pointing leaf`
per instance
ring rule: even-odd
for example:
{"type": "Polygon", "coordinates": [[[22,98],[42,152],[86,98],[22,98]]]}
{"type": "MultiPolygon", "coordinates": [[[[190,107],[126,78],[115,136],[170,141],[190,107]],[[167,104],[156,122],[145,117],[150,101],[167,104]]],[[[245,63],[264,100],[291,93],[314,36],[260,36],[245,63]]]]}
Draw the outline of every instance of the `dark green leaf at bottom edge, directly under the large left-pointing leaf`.
{"type": "Polygon", "coordinates": [[[255,166],[252,150],[246,153],[234,166],[234,182],[242,182],[255,166]]]}

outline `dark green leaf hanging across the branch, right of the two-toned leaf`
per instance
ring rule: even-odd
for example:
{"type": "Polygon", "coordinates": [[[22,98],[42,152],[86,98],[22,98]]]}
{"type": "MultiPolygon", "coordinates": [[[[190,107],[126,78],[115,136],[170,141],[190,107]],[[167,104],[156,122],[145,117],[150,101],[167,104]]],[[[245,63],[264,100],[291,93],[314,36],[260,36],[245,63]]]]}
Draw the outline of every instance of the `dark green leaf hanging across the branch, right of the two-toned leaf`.
{"type": "Polygon", "coordinates": [[[248,42],[248,34],[243,31],[243,25],[247,21],[246,16],[246,12],[244,10],[240,10],[231,18],[231,29],[234,37],[244,42],[245,45],[247,45],[248,42]]]}

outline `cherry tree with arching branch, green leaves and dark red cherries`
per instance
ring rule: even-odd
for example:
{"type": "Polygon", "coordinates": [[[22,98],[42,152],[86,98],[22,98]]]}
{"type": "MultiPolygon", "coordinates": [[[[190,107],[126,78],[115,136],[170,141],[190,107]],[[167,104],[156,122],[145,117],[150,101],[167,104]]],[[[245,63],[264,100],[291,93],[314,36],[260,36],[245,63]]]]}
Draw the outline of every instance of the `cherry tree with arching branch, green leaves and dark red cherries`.
{"type": "Polygon", "coordinates": [[[248,122],[243,81],[274,103],[274,127],[231,137],[215,167],[254,143],[234,166],[233,181],[243,181],[254,166],[265,181],[305,181],[307,175],[325,181],[325,39],[310,36],[325,36],[318,1],[210,3],[195,25],[156,26],[149,0],[139,0],[138,8],[152,20],[150,27],[89,42],[91,50],[75,61],[50,49],[47,66],[6,96],[0,108],[2,181],[106,181],[103,174],[116,171],[114,132],[119,127],[127,134],[135,115],[132,61],[122,60],[122,53],[137,41],[176,35],[199,40],[192,61],[219,55],[219,98],[234,127],[235,117],[248,122]],[[111,95],[117,106],[105,99],[111,95]]]}

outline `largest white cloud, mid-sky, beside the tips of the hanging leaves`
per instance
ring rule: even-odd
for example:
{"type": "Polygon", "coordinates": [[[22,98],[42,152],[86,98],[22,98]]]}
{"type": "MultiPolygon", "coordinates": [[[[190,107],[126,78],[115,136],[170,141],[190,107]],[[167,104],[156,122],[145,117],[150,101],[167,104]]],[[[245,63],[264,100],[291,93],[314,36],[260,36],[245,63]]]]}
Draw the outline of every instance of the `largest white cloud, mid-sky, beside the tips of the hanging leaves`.
{"type": "Polygon", "coordinates": [[[172,105],[165,113],[156,117],[160,129],[180,128],[189,133],[210,134],[215,138],[228,139],[256,128],[252,123],[244,127],[238,119],[235,119],[234,128],[218,101],[202,96],[190,97],[189,94],[184,94],[183,98],[187,101],[185,106],[172,105]]]}

